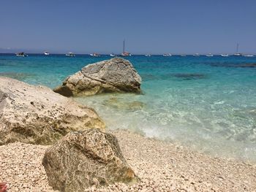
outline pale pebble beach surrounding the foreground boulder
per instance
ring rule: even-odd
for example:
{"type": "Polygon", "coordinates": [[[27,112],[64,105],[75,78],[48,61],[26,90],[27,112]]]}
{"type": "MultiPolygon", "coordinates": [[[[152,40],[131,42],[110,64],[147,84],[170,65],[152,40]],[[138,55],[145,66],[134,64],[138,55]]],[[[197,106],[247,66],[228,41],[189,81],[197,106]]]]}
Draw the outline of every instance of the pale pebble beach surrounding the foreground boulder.
{"type": "MultiPolygon", "coordinates": [[[[129,166],[140,177],[132,186],[116,183],[88,191],[255,191],[256,164],[246,164],[188,150],[127,130],[116,135],[129,166]]],[[[53,191],[42,157],[49,146],[20,142],[1,145],[0,180],[9,191],[53,191]],[[31,160],[32,159],[32,160],[31,160]]]]}

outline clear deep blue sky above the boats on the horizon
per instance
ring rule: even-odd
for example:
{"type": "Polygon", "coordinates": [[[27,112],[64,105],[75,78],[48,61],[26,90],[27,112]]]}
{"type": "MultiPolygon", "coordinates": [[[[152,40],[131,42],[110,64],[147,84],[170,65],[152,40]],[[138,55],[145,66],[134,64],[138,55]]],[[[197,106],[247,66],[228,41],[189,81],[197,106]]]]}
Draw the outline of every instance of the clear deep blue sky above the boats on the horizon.
{"type": "Polygon", "coordinates": [[[1,0],[0,52],[256,53],[256,0],[1,0]]]}

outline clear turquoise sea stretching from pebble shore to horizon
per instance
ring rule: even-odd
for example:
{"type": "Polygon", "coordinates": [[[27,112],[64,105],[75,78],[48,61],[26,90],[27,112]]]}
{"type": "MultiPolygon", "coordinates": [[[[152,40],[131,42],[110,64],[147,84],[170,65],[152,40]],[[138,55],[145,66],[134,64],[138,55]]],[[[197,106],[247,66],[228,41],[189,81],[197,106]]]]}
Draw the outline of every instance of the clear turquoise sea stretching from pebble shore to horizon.
{"type": "MultiPolygon", "coordinates": [[[[0,75],[54,88],[102,55],[0,55],[0,75]]],[[[256,57],[132,55],[143,94],[75,98],[108,128],[140,132],[214,156],[256,162],[256,57]]]]}

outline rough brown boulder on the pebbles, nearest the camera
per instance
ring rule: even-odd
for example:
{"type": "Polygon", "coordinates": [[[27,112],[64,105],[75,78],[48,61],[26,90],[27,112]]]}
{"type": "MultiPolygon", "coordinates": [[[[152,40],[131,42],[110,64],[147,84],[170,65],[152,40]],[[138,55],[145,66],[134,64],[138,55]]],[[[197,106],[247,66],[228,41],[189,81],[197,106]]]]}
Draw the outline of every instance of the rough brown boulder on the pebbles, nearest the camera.
{"type": "Polygon", "coordinates": [[[85,191],[92,185],[138,181],[116,137],[97,129],[70,132],[46,150],[42,164],[49,184],[59,191],[85,191]]]}

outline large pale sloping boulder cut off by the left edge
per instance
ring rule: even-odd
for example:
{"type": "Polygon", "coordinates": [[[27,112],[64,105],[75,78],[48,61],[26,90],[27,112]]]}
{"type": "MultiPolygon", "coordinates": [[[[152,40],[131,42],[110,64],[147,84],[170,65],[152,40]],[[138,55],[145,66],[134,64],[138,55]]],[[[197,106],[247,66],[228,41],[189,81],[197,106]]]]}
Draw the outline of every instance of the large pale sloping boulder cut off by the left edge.
{"type": "Polygon", "coordinates": [[[69,131],[105,128],[96,112],[44,86],[0,77],[0,145],[50,145],[69,131]]]}

